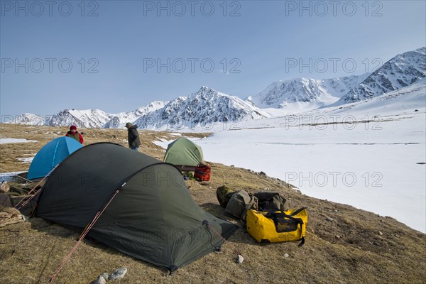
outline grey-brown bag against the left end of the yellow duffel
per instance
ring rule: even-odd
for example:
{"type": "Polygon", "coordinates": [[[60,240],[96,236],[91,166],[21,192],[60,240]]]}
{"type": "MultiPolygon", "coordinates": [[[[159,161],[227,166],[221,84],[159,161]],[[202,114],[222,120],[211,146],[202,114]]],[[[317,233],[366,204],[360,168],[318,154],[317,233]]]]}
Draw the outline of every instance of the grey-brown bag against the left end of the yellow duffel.
{"type": "Polygon", "coordinates": [[[246,220],[246,212],[251,208],[257,209],[257,198],[245,190],[239,190],[229,199],[225,213],[231,217],[246,220]]]}

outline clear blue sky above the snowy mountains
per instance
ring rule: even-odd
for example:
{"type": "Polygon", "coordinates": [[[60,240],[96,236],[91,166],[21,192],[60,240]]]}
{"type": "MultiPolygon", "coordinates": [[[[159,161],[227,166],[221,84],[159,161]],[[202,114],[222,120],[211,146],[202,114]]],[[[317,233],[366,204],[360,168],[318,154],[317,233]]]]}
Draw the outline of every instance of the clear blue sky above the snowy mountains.
{"type": "Polygon", "coordinates": [[[426,45],[425,1],[0,2],[2,121],[130,111],[203,85],[246,98],[426,45]]]}

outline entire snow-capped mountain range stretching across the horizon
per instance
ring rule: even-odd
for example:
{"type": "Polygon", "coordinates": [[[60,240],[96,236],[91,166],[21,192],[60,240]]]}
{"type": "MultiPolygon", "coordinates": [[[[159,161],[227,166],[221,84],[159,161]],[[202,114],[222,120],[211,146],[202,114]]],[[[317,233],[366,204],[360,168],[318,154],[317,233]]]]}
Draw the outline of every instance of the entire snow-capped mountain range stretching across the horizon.
{"type": "Polygon", "coordinates": [[[426,77],[425,47],[396,55],[371,74],[328,80],[296,78],[277,81],[246,100],[203,86],[188,97],[178,97],[170,102],[155,101],[119,114],[108,114],[99,109],[65,109],[48,117],[21,114],[10,123],[122,128],[130,121],[143,129],[205,127],[215,122],[264,119],[282,109],[297,111],[359,102],[401,89],[423,77],[426,77]]]}

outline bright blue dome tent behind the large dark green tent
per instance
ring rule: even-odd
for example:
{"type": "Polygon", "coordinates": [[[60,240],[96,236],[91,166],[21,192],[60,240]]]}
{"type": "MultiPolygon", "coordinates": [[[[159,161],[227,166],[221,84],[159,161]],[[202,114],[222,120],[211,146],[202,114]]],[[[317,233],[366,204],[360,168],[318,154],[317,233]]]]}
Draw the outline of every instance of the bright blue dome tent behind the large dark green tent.
{"type": "Polygon", "coordinates": [[[55,165],[79,148],[82,148],[82,144],[74,138],[63,136],[53,139],[43,146],[33,158],[28,170],[28,180],[44,178],[50,170],[55,168],[55,165]]]}

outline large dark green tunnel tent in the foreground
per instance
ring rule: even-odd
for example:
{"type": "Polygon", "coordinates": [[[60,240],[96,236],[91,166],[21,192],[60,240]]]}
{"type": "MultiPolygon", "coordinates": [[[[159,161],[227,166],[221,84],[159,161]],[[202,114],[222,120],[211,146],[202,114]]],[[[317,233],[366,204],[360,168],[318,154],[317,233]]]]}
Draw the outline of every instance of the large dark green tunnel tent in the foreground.
{"type": "Polygon", "coordinates": [[[88,236],[171,272],[215,251],[237,229],[195,203],[174,165],[114,143],[90,144],[63,160],[36,214],[83,230],[116,190],[88,236]]]}

